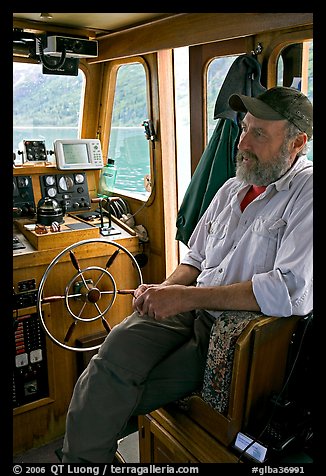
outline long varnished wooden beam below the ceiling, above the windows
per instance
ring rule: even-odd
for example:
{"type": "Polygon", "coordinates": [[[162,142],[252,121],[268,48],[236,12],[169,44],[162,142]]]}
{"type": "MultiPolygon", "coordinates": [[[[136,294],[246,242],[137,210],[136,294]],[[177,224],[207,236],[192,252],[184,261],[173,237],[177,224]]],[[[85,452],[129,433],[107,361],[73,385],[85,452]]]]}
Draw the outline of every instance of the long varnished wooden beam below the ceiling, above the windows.
{"type": "Polygon", "coordinates": [[[312,23],[312,13],[180,13],[171,18],[153,21],[148,25],[103,36],[99,41],[99,56],[90,62],[250,36],[264,31],[312,23]]]}

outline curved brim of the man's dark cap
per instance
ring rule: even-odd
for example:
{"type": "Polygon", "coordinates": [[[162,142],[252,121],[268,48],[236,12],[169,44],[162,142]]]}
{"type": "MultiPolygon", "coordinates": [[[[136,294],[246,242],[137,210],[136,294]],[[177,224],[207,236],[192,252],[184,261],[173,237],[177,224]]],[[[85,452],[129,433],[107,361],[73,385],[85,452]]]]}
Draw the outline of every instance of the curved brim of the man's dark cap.
{"type": "Polygon", "coordinates": [[[285,117],[257,98],[244,96],[242,94],[232,94],[229,98],[229,104],[234,111],[250,112],[250,114],[259,119],[265,119],[267,121],[280,121],[285,119],[285,117]]]}

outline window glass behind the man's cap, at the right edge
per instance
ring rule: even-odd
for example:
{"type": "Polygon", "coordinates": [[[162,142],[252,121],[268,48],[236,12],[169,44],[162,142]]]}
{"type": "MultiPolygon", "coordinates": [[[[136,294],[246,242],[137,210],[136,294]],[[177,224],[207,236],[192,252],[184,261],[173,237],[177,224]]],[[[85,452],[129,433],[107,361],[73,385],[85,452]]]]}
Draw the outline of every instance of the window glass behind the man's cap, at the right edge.
{"type": "MultiPolygon", "coordinates": [[[[292,86],[308,96],[313,103],[313,41],[287,45],[277,62],[277,85],[292,86]]],[[[313,141],[307,157],[313,160],[313,141]]]]}

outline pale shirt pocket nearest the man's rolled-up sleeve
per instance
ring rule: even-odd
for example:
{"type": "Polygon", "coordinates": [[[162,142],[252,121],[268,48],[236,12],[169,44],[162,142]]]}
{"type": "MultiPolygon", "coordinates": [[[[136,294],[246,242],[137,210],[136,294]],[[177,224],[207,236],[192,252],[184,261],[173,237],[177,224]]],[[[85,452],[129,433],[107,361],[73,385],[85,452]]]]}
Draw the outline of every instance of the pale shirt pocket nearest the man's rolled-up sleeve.
{"type": "Polygon", "coordinates": [[[259,217],[252,225],[253,260],[256,272],[274,268],[276,253],[284,234],[286,221],[282,218],[259,217]]]}

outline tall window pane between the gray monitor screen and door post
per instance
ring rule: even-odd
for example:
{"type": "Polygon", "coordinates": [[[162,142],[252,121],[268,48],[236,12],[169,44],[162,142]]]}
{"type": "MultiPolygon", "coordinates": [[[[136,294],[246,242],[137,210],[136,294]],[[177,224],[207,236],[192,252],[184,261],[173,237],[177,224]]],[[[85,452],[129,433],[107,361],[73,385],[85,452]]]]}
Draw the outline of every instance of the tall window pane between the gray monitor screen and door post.
{"type": "Polygon", "coordinates": [[[146,176],[150,175],[150,145],[144,120],[149,117],[146,74],[141,63],[119,66],[112,111],[108,157],[117,168],[117,191],[147,198],[146,176]]]}

